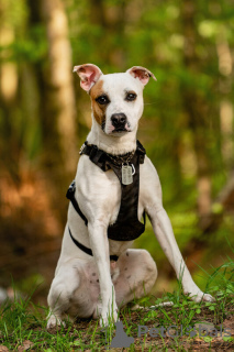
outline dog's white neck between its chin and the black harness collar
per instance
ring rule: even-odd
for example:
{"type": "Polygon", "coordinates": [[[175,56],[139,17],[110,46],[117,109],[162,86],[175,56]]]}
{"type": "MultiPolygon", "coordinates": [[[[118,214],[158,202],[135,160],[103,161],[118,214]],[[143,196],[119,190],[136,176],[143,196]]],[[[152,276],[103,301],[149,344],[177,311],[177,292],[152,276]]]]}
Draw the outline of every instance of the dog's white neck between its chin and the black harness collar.
{"type": "Polygon", "coordinates": [[[136,150],[136,132],[137,128],[121,136],[108,135],[96,121],[92,121],[92,128],[87,141],[108,154],[122,155],[136,150]]]}

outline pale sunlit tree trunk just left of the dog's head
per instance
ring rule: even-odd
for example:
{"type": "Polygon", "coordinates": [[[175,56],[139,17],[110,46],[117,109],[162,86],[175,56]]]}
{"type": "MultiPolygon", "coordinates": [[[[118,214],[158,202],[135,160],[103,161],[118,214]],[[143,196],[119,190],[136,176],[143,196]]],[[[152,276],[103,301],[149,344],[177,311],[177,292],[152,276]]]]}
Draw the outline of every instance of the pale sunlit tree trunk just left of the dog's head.
{"type": "Polygon", "coordinates": [[[42,117],[46,154],[53,147],[53,158],[57,153],[59,166],[74,174],[78,153],[67,18],[60,0],[41,0],[41,11],[48,41],[48,63],[44,72],[45,116],[42,117]]]}

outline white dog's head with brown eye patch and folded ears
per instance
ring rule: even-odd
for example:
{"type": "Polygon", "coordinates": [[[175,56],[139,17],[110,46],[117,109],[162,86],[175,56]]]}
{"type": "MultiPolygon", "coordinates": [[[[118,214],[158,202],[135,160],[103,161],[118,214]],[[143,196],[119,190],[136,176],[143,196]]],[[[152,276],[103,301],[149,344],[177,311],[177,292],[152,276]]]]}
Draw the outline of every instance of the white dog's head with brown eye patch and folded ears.
{"type": "Polygon", "coordinates": [[[123,74],[103,75],[92,64],[75,66],[80,86],[91,97],[94,120],[105,134],[120,136],[136,130],[143,113],[143,89],[155,76],[141,66],[123,74]]]}

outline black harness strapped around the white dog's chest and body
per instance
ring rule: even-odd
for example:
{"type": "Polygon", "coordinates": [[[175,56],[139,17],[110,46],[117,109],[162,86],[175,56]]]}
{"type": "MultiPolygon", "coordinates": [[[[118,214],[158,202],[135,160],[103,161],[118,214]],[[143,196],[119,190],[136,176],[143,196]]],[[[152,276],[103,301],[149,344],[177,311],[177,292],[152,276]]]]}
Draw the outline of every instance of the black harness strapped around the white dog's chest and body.
{"type": "MultiPolygon", "coordinates": [[[[145,231],[145,212],[144,223],[138,221],[138,190],[140,190],[140,164],[144,163],[145,148],[137,141],[135,153],[127,153],[124,155],[111,155],[97,147],[97,145],[89,145],[85,142],[80,150],[80,155],[86,154],[90,161],[100,167],[103,172],[112,169],[118,176],[121,184],[121,205],[116,221],[109,226],[108,238],[114,241],[133,241],[137,239],[145,231]],[[126,162],[127,161],[127,162],[126,162]],[[130,185],[123,185],[122,183],[122,166],[123,164],[130,164],[134,170],[133,182],[130,185]]],[[[79,205],[75,198],[76,183],[71,183],[67,190],[67,198],[71,201],[75,210],[88,226],[88,220],[81,212],[79,205]]],[[[83,252],[92,255],[92,251],[81,243],[79,243],[71,234],[69,234],[74,243],[83,252]]],[[[111,260],[118,261],[116,255],[111,255],[111,260]]]]}

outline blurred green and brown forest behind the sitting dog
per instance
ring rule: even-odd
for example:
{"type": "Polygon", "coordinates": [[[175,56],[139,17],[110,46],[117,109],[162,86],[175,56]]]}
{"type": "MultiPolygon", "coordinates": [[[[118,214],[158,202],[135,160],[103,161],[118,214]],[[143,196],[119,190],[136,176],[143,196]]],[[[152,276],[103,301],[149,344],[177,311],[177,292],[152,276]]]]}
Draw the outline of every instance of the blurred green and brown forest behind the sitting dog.
{"type": "MultiPolygon", "coordinates": [[[[91,127],[74,65],[147,67],[138,139],[196,282],[234,244],[232,0],[1,0],[0,286],[45,301],[66,223],[66,190],[91,127]]],[[[155,295],[176,286],[149,221],[155,295]]]]}

